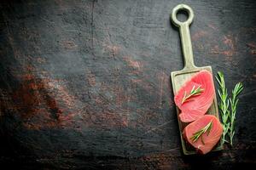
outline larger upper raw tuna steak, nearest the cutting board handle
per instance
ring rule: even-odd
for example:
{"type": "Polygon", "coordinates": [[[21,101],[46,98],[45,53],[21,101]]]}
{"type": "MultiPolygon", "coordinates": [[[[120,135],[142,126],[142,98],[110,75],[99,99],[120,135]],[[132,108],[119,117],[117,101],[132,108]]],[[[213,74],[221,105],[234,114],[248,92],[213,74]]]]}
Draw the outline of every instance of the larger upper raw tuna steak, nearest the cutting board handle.
{"type": "Polygon", "coordinates": [[[174,97],[175,104],[181,110],[180,120],[193,122],[205,115],[212,105],[214,96],[212,74],[206,70],[196,73],[188,82],[184,83],[174,97]],[[191,92],[195,92],[195,94],[191,95],[191,92]]]}

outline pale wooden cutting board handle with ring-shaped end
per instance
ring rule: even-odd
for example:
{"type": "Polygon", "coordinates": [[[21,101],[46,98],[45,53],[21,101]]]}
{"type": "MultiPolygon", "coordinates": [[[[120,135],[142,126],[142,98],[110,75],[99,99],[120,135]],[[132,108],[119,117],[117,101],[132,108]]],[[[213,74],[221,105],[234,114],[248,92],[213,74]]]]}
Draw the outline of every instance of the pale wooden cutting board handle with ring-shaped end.
{"type": "Polygon", "coordinates": [[[184,68],[183,70],[196,68],[194,65],[193,50],[189,32],[189,26],[193,22],[194,12],[192,8],[185,4],[179,4],[172,9],[172,23],[179,28],[179,34],[182,43],[183,57],[184,57],[184,68]],[[177,20],[177,12],[184,10],[189,14],[189,18],[186,21],[177,20]]]}

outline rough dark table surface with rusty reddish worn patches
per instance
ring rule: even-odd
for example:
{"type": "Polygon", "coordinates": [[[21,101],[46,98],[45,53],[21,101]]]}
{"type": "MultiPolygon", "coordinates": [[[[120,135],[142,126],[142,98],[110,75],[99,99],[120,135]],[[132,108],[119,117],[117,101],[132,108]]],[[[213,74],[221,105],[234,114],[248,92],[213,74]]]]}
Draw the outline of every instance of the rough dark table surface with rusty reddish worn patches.
{"type": "MultiPolygon", "coordinates": [[[[255,1],[1,1],[0,163],[84,169],[229,169],[256,162],[255,1]],[[233,148],[183,156],[169,14],[195,11],[196,65],[243,82],[233,148]]],[[[217,84],[216,84],[217,85],[217,84]]]]}

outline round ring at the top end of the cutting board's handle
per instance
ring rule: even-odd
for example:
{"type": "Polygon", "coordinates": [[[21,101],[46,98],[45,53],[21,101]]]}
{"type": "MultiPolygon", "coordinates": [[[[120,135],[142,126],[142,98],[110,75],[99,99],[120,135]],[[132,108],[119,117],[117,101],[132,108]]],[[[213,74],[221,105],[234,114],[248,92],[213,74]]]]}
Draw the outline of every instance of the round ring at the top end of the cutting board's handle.
{"type": "Polygon", "coordinates": [[[175,26],[182,26],[182,25],[190,25],[194,19],[194,12],[192,8],[185,4],[179,4],[175,8],[172,9],[172,23],[175,26]],[[179,21],[177,20],[177,14],[187,14],[188,20],[179,21]]]}

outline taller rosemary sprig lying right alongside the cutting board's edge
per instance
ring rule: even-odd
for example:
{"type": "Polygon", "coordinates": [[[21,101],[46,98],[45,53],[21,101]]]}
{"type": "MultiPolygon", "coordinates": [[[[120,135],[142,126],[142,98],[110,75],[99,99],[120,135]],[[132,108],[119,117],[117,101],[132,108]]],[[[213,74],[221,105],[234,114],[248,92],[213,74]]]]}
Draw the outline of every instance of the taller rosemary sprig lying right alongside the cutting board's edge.
{"type": "Polygon", "coordinates": [[[228,90],[225,86],[224,82],[224,74],[220,71],[218,71],[218,77],[216,77],[218,81],[219,88],[218,89],[218,96],[220,98],[220,102],[218,104],[218,107],[220,109],[220,116],[222,118],[222,124],[223,124],[223,133],[222,133],[222,139],[221,139],[221,144],[224,144],[224,142],[228,142],[225,140],[226,134],[229,132],[230,128],[230,122],[229,122],[229,116],[230,116],[230,111],[229,111],[229,99],[228,99],[228,90]]]}

